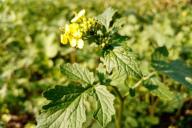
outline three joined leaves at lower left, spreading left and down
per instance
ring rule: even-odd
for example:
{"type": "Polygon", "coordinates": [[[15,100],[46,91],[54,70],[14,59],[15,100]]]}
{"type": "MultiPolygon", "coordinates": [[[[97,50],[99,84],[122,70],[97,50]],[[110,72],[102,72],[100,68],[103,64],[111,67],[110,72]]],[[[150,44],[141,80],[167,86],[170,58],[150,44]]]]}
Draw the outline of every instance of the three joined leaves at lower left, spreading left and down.
{"type": "MultiPolygon", "coordinates": [[[[94,117],[101,126],[106,126],[111,121],[111,116],[115,114],[113,107],[114,96],[107,91],[103,85],[93,85],[90,82],[93,74],[78,64],[65,64],[61,67],[64,75],[73,80],[82,80],[90,86],[84,88],[81,86],[55,86],[44,93],[44,97],[51,102],[43,108],[43,112],[38,117],[39,128],[81,128],[86,121],[85,102],[89,95],[95,95],[97,110],[94,117]]],[[[93,77],[94,78],[94,77],[93,77]]],[[[87,101],[88,102],[88,101],[87,101]]]]}

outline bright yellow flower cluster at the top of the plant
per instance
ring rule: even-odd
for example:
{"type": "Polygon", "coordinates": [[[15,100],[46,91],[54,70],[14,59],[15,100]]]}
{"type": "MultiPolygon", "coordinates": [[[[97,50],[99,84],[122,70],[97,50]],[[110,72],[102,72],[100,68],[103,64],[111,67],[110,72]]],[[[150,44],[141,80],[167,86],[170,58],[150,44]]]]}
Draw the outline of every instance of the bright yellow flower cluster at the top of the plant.
{"type": "Polygon", "coordinates": [[[71,47],[83,48],[83,35],[95,25],[93,18],[85,17],[85,10],[81,10],[72,20],[71,24],[65,25],[64,33],[61,34],[61,43],[70,44],[71,47]]]}

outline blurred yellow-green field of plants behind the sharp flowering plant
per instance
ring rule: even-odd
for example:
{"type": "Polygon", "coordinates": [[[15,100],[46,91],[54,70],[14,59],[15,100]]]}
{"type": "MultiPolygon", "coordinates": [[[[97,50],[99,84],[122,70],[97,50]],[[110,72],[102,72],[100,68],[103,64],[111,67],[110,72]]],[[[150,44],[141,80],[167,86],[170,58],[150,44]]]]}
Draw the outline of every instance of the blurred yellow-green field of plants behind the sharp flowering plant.
{"type": "MultiPolygon", "coordinates": [[[[165,45],[169,59],[192,67],[192,2],[189,0],[0,0],[0,128],[34,128],[45,99],[42,92],[67,79],[59,65],[78,62],[97,66],[94,47],[75,50],[60,44],[59,27],[86,10],[96,16],[107,7],[126,18],[120,30],[148,70],[155,47],[165,45]]],[[[148,93],[128,98],[124,128],[191,128],[191,92],[166,77],[175,100],[163,102],[148,93]]],[[[94,124],[91,127],[99,128],[94,124]]],[[[109,124],[113,127],[113,122],[109,124]]]]}

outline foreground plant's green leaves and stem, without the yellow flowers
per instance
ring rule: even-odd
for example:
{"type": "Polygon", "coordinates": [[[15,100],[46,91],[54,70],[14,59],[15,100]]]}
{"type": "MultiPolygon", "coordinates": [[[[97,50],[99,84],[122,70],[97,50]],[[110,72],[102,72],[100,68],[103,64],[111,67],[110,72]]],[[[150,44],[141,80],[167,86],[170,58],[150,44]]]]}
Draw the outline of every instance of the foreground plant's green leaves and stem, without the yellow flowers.
{"type": "MultiPolygon", "coordinates": [[[[142,71],[139,69],[136,57],[130,48],[127,48],[127,46],[125,45],[118,46],[115,44],[115,42],[121,44],[121,42],[125,41],[124,39],[120,38],[120,34],[117,34],[117,28],[112,27],[109,31],[110,23],[112,21],[114,22],[113,16],[115,12],[116,11],[114,11],[113,9],[108,8],[106,9],[106,11],[104,11],[104,13],[97,17],[97,20],[100,25],[104,26],[107,30],[96,30],[100,31],[103,35],[99,38],[101,38],[101,40],[102,38],[108,39],[103,40],[102,43],[96,43],[98,45],[101,45],[100,48],[102,48],[101,50],[104,52],[103,56],[101,56],[102,61],[100,63],[103,63],[105,67],[99,67],[97,70],[99,81],[96,81],[96,78],[92,72],[90,72],[84,67],[81,67],[78,64],[62,65],[62,74],[64,74],[74,82],[79,82],[81,85],[80,87],[78,85],[77,87],[70,85],[66,87],[56,86],[55,89],[51,89],[45,92],[44,96],[48,100],[52,100],[52,102],[43,107],[45,109],[45,112],[42,113],[38,119],[38,127],[83,127],[83,123],[86,121],[86,107],[84,106],[84,102],[86,101],[86,99],[88,99],[88,96],[91,95],[94,95],[94,100],[96,101],[97,106],[95,110],[92,110],[94,113],[93,116],[102,127],[106,127],[107,124],[112,120],[112,116],[115,114],[115,97],[113,96],[113,94],[111,94],[111,92],[107,90],[106,86],[100,84],[106,84],[107,86],[111,87],[112,90],[116,93],[116,98],[119,98],[120,108],[116,108],[116,111],[119,110],[120,115],[118,115],[116,112],[116,120],[117,122],[121,122],[121,111],[123,108],[124,98],[127,97],[127,94],[121,94],[118,89],[121,87],[114,87],[110,84],[110,81],[113,81],[113,77],[112,79],[110,79],[110,74],[112,74],[112,76],[117,77],[125,76],[125,79],[123,81],[126,81],[126,78],[136,78],[137,80],[139,79],[139,81],[135,83],[135,85],[131,87],[129,91],[127,91],[127,93],[130,94],[130,96],[132,97],[135,96],[135,88],[137,88],[140,84],[143,83],[144,86],[153,95],[158,96],[164,101],[170,101],[174,98],[173,92],[171,92],[169,88],[163,83],[161,83],[158,78],[151,78],[154,75],[153,73],[147,76],[142,75],[142,71]],[[109,79],[109,82],[106,81],[107,79],[109,79]],[[58,96],[55,96],[54,93],[58,93],[58,96]],[[51,95],[53,95],[53,99],[51,98],[51,95]]],[[[97,32],[95,32],[95,35],[93,36],[97,36],[97,32]]],[[[179,74],[181,70],[183,71],[184,66],[181,70],[178,70],[178,72],[176,72],[176,66],[178,66],[177,64],[171,64],[170,66],[166,66],[164,60],[166,60],[166,57],[168,57],[168,55],[169,53],[165,46],[157,48],[152,54],[152,65],[153,67],[155,67],[155,69],[157,69],[157,71],[167,73],[174,79],[181,82],[183,82],[183,76],[191,76],[190,71],[180,75],[175,75],[179,74]]],[[[186,69],[186,71],[188,70],[186,69]]],[[[87,102],[91,104],[91,101],[87,102]]],[[[156,118],[154,117],[149,117],[149,120],[151,119],[156,120],[156,118]]],[[[121,123],[116,123],[116,127],[121,127],[121,123]]]]}

